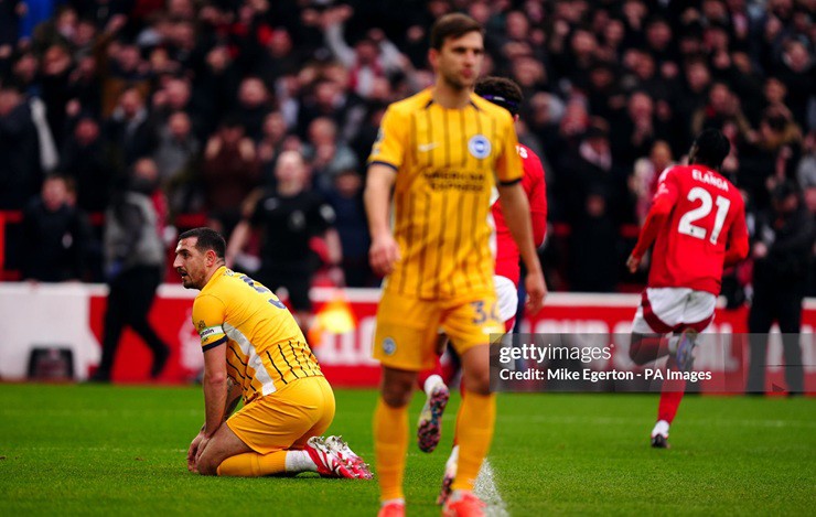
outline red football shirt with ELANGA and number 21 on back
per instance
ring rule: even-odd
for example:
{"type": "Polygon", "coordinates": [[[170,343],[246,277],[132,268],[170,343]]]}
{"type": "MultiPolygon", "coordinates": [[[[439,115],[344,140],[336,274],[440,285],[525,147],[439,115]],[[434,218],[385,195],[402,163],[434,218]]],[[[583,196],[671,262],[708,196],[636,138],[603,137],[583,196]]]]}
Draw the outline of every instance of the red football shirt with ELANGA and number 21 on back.
{"type": "Polygon", "coordinates": [[[720,293],[727,249],[748,250],[745,204],[733,184],[700,164],[676,165],[659,179],[648,220],[632,252],[642,257],[655,238],[651,288],[690,288],[720,293]],[[656,234],[656,237],[654,235],[656,234]]]}

